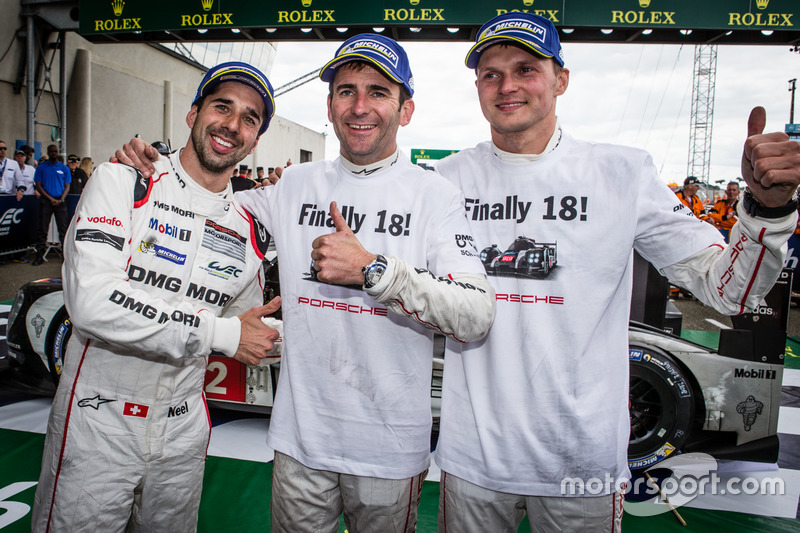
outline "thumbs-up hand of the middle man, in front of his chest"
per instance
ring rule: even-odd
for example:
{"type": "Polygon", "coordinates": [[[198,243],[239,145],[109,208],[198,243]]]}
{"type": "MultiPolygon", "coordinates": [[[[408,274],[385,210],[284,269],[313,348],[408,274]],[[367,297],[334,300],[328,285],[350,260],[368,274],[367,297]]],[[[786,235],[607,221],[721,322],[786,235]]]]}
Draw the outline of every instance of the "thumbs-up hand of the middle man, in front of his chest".
{"type": "Polygon", "coordinates": [[[317,279],[336,285],[360,286],[364,282],[361,268],[377,256],[361,246],[336,202],[331,202],[330,213],[336,231],[321,235],[311,243],[311,259],[317,279]]]}

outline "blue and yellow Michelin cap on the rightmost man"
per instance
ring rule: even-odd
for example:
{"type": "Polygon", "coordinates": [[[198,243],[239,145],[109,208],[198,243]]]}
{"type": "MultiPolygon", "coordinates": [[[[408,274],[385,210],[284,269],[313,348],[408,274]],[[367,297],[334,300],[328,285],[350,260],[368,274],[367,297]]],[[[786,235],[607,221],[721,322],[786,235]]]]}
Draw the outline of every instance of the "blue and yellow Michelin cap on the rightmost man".
{"type": "Polygon", "coordinates": [[[537,55],[552,58],[564,66],[564,53],[558,30],[545,17],[531,13],[510,12],[498,15],[478,30],[478,38],[467,53],[467,67],[476,68],[481,53],[502,41],[511,41],[523,45],[537,55]]]}

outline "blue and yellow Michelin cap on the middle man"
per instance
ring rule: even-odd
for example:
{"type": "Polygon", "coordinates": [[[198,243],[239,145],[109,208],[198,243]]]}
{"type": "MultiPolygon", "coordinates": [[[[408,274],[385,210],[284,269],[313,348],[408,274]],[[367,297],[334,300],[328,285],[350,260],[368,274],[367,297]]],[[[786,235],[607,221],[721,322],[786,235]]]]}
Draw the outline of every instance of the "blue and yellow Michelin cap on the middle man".
{"type": "Polygon", "coordinates": [[[322,67],[319,77],[322,81],[332,82],[336,69],[350,61],[366,61],[408,89],[414,96],[414,76],[408,64],[408,56],[403,47],[394,40],[375,33],[362,33],[350,37],[336,50],[336,56],[322,67]]]}

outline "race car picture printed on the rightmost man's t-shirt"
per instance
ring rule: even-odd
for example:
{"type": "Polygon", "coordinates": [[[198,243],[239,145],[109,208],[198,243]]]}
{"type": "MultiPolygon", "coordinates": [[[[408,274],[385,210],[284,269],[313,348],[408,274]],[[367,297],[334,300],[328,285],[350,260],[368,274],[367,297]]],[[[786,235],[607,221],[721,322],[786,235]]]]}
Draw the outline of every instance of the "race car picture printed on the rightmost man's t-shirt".
{"type": "Polygon", "coordinates": [[[480,258],[491,276],[546,278],[558,263],[556,243],[536,242],[524,236],[517,237],[505,252],[496,244],[488,246],[481,250],[480,258]]]}

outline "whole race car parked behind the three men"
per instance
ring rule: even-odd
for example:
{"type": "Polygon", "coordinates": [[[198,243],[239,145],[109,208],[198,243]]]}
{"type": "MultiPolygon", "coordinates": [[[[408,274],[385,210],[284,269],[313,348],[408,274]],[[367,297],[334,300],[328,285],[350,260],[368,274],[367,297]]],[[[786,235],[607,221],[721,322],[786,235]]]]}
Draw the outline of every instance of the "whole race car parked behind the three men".
{"type": "MultiPolygon", "coordinates": [[[[273,262],[272,267],[277,270],[273,262]]],[[[267,299],[279,291],[268,274],[267,299]]],[[[754,313],[733,318],[717,350],[643,323],[628,328],[631,470],[680,452],[775,462],[791,271],[785,270],[754,313]]],[[[15,379],[52,394],[72,331],[61,281],[34,281],[17,293],[8,319],[9,369],[15,379]]],[[[431,376],[433,439],[444,371],[444,341],[434,343],[431,376]]],[[[280,364],[249,366],[209,357],[206,396],[218,407],[268,412],[280,364]]]]}

